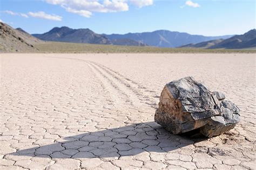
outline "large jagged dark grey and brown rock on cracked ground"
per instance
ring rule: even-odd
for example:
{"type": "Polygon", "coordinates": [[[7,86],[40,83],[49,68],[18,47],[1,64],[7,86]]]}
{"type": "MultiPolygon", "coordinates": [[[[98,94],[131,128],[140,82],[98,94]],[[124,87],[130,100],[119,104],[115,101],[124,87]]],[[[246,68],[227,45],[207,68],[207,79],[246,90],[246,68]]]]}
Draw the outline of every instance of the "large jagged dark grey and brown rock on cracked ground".
{"type": "Polygon", "coordinates": [[[166,84],[161,92],[156,123],[173,134],[200,128],[208,138],[231,130],[239,122],[239,108],[224,100],[221,92],[211,92],[193,77],[166,84]]]}

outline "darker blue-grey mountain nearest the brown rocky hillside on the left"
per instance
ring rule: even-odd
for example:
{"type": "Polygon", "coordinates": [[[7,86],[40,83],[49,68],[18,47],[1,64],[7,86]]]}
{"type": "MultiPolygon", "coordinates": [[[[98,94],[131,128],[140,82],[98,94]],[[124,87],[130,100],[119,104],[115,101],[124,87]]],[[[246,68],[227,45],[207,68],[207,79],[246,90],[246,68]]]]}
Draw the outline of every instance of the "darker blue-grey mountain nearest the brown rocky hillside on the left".
{"type": "Polygon", "coordinates": [[[99,35],[90,29],[70,29],[66,26],[56,27],[49,32],[33,34],[33,36],[55,42],[111,44],[110,40],[105,36],[99,35]]]}

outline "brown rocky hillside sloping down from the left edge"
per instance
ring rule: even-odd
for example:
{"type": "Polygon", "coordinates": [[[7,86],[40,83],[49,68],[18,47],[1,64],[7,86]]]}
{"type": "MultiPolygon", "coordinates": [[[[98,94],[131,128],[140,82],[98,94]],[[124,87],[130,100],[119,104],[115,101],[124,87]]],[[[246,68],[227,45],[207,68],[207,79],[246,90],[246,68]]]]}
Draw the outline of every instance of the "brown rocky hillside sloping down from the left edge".
{"type": "Polygon", "coordinates": [[[0,22],[0,51],[1,52],[33,52],[37,49],[33,46],[41,40],[16,30],[8,24],[0,22]]]}

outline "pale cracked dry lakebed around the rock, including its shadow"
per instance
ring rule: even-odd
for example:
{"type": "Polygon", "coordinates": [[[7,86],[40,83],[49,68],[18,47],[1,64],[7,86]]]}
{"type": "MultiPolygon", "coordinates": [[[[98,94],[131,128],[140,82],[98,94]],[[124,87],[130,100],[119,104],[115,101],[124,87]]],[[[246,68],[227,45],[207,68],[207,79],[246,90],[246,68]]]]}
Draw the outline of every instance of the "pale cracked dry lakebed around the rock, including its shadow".
{"type": "Polygon", "coordinates": [[[1,54],[0,169],[255,169],[255,54],[1,54]],[[240,123],[212,139],[154,123],[161,90],[193,76],[240,123]]]}

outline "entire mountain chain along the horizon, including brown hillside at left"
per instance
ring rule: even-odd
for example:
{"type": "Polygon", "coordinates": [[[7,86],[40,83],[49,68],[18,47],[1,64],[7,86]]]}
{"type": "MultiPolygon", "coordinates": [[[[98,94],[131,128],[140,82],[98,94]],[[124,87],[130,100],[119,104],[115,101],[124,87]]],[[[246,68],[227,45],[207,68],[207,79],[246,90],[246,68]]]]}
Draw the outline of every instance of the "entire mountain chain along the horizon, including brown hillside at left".
{"type": "Polygon", "coordinates": [[[45,43],[44,40],[127,46],[149,45],[176,47],[179,44],[182,44],[178,47],[201,49],[245,49],[256,47],[256,30],[253,29],[244,33],[244,35],[235,35],[232,37],[205,37],[166,30],[144,33],[127,33],[125,35],[100,35],[90,29],[70,29],[63,26],[61,28],[53,28],[49,32],[43,34],[30,35],[21,28],[14,29],[9,25],[0,22],[0,52],[38,51],[34,45],[45,43]],[[205,39],[206,41],[204,41],[205,39]],[[184,45],[185,43],[187,44],[184,45]]]}

